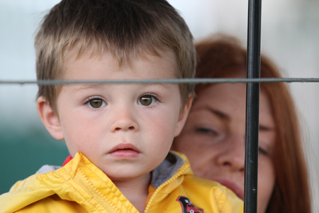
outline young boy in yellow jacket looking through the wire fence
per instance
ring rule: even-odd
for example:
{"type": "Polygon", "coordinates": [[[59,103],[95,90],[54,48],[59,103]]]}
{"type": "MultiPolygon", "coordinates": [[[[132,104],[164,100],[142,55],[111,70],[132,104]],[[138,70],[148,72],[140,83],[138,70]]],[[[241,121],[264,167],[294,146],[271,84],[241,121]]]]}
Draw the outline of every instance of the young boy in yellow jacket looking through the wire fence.
{"type": "MultiPolygon", "coordinates": [[[[35,37],[37,77],[191,78],[192,39],[164,0],[63,0],[35,37]]],[[[17,182],[0,212],[242,212],[233,192],[169,152],[192,94],[190,84],[40,84],[40,118],[72,160],[17,182]]]]}

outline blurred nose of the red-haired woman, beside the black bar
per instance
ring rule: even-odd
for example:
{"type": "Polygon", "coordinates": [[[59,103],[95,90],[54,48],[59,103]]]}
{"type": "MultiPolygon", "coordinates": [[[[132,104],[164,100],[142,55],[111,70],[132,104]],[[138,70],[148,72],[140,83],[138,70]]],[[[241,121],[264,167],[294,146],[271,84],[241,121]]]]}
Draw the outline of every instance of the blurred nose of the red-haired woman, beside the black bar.
{"type": "Polygon", "coordinates": [[[245,171],[245,137],[229,136],[225,138],[224,148],[218,155],[217,163],[233,171],[245,171]]]}

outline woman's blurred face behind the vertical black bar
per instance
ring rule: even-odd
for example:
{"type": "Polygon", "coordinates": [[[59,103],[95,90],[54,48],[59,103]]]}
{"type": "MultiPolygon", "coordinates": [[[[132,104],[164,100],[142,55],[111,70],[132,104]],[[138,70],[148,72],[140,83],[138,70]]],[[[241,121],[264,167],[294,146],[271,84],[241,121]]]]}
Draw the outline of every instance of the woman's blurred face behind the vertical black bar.
{"type": "MultiPolygon", "coordinates": [[[[246,84],[212,84],[196,97],[173,150],[186,154],[196,176],[215,180],[244,197],[246,84]]],[[[259,102],[258,212],[274,189],[274,118],[261,91],[259,102]]]]}

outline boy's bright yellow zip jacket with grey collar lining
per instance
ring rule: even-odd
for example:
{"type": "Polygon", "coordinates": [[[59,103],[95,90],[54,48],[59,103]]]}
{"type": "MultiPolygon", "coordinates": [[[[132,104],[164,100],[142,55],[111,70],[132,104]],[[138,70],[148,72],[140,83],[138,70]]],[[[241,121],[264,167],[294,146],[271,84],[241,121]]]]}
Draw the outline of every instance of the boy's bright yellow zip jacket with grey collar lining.
{"type": "MultiPolygon", "coordinates": [[[[201,211],[243,212],[243,202],[217,182],[194,177],[184,155],[169,153],[152,173],[145,212],[201,211]]],[[[10,192],[0,196],[0,212],[138,210],[99,168],[77,153],[64,167],[32,175],[13,185],[10,192]]]]}

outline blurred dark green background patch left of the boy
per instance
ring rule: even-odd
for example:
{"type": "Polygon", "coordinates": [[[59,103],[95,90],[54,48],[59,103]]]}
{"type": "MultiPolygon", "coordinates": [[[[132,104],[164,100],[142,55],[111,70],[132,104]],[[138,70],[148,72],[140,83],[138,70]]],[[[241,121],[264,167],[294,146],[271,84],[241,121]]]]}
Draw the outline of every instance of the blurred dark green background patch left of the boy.
{"type": "Polygon", "coordinates": [[[64,141],[56,141],[41,126],[31,124],[28,131],[0,126],[0,194],[8,192],[18,180],[33,175],[42,165],[62,165],[68,151],[64,141]]]}

